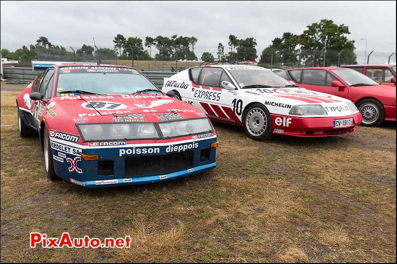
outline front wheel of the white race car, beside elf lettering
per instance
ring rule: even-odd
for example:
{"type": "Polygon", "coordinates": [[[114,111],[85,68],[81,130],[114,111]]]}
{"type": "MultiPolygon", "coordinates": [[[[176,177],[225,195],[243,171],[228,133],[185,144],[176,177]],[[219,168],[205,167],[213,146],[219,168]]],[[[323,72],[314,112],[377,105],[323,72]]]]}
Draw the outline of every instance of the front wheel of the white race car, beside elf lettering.
{"type": "Polygon", "coordinates": [[[267,140],[273,136],[269,110],[259,103],[244,110],[243,127],[247,136],[254,140],[267,140]]]}

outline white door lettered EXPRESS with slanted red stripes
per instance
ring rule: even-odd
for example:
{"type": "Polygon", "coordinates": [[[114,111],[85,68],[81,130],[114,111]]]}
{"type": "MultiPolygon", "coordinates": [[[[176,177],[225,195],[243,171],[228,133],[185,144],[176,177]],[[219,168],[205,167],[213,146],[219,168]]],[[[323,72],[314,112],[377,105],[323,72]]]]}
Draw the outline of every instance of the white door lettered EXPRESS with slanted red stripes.
{"type": "Polygon", "coordinates": [[[223,88],[223,81],[236,85],[223,68],[203,67],[194,91],[194,106],[202,109],[212,120],[240,124],[232,108],[237,88],[223,88]]]}

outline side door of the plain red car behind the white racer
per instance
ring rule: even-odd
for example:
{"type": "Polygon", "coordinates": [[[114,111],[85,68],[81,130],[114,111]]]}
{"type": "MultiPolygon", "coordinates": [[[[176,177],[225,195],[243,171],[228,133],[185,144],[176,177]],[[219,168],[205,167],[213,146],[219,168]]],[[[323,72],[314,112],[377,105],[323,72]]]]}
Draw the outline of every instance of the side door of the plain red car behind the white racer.
{"type": "Polygon", "coordinates": [[[347,98],[348,88],[332,87],[332,81],[339,80],[327,70],[304,69],[301,86],[309,90],[347,98]]]}

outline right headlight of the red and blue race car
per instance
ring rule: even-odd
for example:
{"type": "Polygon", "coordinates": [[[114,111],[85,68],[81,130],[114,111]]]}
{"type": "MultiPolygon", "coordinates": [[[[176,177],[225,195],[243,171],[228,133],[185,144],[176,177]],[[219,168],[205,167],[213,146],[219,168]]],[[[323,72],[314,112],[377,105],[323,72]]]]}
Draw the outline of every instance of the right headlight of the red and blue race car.
{"type": "Polygon", "coordinates": [[[212,132],[208,118],[157,123],[164,138],[212,132]]]}

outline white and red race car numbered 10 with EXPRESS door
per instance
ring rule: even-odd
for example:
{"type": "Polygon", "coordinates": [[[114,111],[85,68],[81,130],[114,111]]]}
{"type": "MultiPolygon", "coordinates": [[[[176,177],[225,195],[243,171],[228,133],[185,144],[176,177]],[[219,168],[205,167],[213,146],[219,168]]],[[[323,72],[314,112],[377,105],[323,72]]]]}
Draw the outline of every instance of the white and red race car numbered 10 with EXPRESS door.
{"type": "Polygon", "coordinates": [[[211,120],[243,126],[255,140],[273,134],[349,134],[362,121],[350,100],[298,88],[258,66],[193,67],[165,80],[162,91],[174,91],[176,99],[196,106],[211,120]]]}

